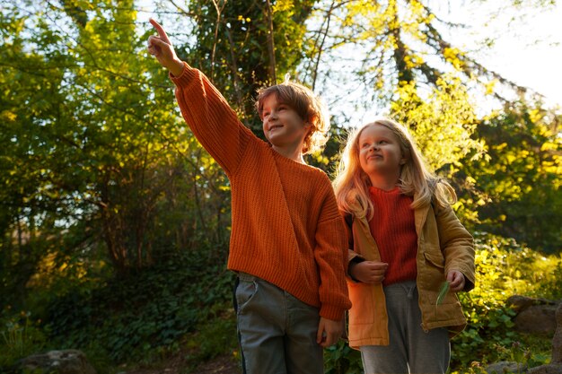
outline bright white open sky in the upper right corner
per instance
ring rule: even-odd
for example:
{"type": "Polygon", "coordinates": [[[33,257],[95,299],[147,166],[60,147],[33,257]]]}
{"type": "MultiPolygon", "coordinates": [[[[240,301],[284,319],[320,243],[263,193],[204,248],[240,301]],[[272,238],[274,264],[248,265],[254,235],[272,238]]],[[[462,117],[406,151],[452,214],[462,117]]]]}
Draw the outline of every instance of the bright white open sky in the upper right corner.
{"type": "Polygon", "coordinates": [[[489,23],[486,20],[490,10],[485,6],[456,3],[458,8],[451,10],[450,15],[469,23],[472,30],[455,31],[453,40],[470,48],[485,36],[495,37],[495,46],[476,54],[477,60],[506,79],[538,91],[549,107],[562,107],[562,1],[546,11],[500,13],[495,22],[489,23]],[[522,19],[512,21],[514,15],[522,19]]]}

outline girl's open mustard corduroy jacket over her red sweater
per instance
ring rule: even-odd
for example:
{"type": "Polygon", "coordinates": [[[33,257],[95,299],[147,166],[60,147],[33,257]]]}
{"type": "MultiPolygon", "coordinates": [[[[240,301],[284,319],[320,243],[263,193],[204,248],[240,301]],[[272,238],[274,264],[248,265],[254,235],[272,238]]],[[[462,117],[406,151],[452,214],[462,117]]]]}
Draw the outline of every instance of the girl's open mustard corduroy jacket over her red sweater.
{"type": "MultiPolygon", "coordinates": [[[[464,291],[474,288],[474,240],[450,206],[436,210],[435,213],[432,204],[428,204],[415,211],[418,304],[422,328],[447,327],[454,336],[466,326],[461,303],[454,292],[448,292],[439,305],[436,305],[436,300],[445,274],[452,269],[464,274],[464,291]]],[[[354,257],[381,261],[366,218],[354,218],[347,229],[350,239],[353,239],[349,261],[354,257]]],[[[355,349],[362,345],[388,345],[388,314],[382,284],[359,283],[347,278],[347,288],[352,302],[349,309],[349,345],[355,349]]]]}

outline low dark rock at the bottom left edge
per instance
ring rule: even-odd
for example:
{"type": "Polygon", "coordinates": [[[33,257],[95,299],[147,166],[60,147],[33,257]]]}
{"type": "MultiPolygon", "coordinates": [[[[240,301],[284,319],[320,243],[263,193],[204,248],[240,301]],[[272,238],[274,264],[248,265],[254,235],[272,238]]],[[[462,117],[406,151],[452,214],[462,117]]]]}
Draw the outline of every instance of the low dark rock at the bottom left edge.
{"type": "Polygon", "coordinates": [[[53,374],[97,374],[83,352],[78,350],[33,354],[22,359],[18,366],[22,370],[39,369],[53,374]]]}

